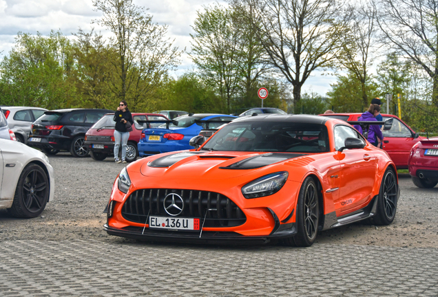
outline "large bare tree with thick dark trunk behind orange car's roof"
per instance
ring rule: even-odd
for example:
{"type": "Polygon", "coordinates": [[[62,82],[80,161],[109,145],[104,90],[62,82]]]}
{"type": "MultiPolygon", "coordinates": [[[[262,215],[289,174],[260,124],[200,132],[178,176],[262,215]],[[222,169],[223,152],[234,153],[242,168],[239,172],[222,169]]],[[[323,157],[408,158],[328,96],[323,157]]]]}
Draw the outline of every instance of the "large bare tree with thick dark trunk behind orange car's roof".
{"type": "Polygon", "coordinates": [[[333,62],[346,28],[335,0],[231,0],[251,12],[269,61],[293,85],[293,101],[311,73],[333,62]]]}

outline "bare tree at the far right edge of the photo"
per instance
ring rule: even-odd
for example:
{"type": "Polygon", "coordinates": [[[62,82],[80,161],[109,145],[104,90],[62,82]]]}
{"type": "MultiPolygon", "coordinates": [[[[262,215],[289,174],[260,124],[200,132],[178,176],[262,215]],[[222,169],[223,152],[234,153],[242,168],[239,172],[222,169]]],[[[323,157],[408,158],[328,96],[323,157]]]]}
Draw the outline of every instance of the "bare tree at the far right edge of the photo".
{"type": "Polygon", "coordinates": [[[388,46],[421,66],[432,78],[432,102],[438,107],[438,2],[379,0],[375,7],[388,46]]]}

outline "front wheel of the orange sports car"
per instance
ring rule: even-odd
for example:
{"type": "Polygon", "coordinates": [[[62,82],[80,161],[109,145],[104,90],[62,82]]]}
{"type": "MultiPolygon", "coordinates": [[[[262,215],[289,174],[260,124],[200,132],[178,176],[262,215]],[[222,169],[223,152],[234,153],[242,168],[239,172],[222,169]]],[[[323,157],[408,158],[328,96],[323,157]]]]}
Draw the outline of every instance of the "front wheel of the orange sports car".
{"type": "Polygon", "coordinates": [[[296,215],[298,233],[287,239],[286,243],[298,247],[313,245],[318,231],[319,211],[317,186],[312,177],[307,177],[304,179],[298,196],[296,215]]]}

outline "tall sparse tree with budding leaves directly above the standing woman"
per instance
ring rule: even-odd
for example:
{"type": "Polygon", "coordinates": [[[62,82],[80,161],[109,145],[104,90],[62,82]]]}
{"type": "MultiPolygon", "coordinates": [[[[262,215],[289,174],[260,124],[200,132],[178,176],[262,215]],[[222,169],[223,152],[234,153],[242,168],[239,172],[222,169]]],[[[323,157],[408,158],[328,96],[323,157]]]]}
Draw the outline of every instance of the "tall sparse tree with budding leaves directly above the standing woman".
{"type": "Polygon", "coordinates": [[[133,0],[94,0],[96,10],[103,12],[96,21],[113,34],[112,45],[118,59],[113,68],[112,91],[120,100],[131,100],[129,107],[136,109],[168,69],[179,63],[178,48],[165,39],[167,26],[152,23],[133,0]]]}

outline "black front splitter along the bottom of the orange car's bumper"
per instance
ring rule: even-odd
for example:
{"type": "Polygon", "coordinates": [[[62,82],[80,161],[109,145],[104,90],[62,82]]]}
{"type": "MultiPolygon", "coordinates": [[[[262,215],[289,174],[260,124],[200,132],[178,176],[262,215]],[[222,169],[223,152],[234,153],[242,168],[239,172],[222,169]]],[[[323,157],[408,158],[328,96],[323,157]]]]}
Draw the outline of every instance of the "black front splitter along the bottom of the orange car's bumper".
{"type": "Polygon", "coordinates": [[[276,232],[267,236],[244,236],[237,232],[178,232],[167,230],[151,230],[141,227],[114,228],[105,224],[104,230],[114,236],[147,241],[167,241],[178,243],[205,243],[205,244],[237,244],[248,245],[252,243],[266,244],[271,241],[286,239],[297,234],[295,223],[283,224],[276,232]],[[281,227],[282,226],[282,227],[281,227]]]}

